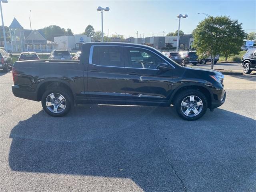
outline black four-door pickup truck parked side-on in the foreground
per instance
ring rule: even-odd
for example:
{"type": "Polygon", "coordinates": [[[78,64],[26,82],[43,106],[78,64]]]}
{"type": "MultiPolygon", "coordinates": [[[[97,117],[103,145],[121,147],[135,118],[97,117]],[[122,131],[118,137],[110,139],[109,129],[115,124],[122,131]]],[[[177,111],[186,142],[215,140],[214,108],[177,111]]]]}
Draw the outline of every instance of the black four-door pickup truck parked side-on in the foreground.
{"type": "Polygon", "coordinates": [[[41,101],[51,116],[64,116],[74,103],[173,104],[181,118],[196,120],[226,98],[220,72],[180,66],[138,44],[85,43],[80,61],[18,61],[12,73],[13,94],[41,101]]]}

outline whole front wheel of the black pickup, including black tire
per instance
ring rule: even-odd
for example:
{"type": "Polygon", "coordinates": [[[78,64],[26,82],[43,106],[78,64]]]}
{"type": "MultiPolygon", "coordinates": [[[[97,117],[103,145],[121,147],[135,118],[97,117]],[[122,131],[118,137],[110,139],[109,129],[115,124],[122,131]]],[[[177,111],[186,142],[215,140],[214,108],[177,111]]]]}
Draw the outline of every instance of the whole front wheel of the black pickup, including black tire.
{"type": "Polygon", "coordinates": [[[188,89],[180,92],[174,98],[174,108],[182,119],[194,121],[205,114],[208,108],[208,102],[206,96],[199,90],[188,89]]]}

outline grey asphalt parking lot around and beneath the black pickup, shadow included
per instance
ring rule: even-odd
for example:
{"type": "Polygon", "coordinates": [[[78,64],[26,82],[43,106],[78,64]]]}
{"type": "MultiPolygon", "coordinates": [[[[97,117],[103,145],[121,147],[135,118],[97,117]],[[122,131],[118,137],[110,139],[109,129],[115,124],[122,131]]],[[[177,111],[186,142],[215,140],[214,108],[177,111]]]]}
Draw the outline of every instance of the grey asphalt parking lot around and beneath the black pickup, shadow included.
{"type": "Polygon", "coordinates": [[[13,96],[0,72],[0,192],[255,191],[255,76],[225,76],[200,120],[174,108],[79,105],[62,118],[13,96]]]}

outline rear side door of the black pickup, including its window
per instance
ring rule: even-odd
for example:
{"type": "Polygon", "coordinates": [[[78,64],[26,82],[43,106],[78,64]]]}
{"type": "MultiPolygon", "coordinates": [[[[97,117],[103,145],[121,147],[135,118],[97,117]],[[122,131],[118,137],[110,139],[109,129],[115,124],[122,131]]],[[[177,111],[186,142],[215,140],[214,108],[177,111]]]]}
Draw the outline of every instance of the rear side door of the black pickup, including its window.
{"type": "Polygon", "coordinates": [[[92,45],[88,64],[88,96],[96,103],[124,104],[126,68],[122,46],[92,45]]]}

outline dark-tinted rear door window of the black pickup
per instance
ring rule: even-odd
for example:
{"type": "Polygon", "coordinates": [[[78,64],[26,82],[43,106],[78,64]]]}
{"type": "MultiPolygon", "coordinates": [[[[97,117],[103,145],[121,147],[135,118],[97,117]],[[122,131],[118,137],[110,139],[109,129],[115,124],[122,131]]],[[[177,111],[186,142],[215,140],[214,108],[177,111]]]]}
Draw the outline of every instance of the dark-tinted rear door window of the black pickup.
{"type": "Polygon", "coordinates": [[[92,64],[100,66],[124,67],[120,46],[94,46],[92,64]]]}

